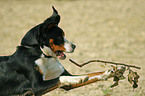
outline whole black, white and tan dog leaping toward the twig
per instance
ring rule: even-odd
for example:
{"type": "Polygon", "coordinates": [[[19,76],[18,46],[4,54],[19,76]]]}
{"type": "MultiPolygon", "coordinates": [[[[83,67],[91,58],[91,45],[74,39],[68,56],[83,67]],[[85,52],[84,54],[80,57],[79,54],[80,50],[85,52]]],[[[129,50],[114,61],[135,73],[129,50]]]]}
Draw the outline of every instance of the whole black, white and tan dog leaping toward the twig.
{"type": "Polygon", "coordinates": [[[30,29],[11,56],[0,57],[0,96],[42,96],[56,88],[70,90],[111,77],[112,71],[70,74],[58,61],[73,53],[76,45],[65,38],[53,14],[30,29]]]}

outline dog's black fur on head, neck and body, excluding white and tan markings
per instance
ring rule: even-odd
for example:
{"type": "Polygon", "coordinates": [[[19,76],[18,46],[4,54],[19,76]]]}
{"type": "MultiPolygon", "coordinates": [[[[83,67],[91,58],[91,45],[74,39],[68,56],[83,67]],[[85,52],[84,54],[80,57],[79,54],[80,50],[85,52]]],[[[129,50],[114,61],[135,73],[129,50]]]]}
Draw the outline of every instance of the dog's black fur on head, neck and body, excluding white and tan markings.
{"type": "MultiPolygon", "coordinates": [[[[54,39],[56,45],[64,42],[63,30],[58,27],[60,16],[53,10],[51,17],[28,31],[14,54],[0,57],[0,96],[41,96],[58,84],[59,78],[43,81],[34,62],[42,55],[40,46],[49,47],[49,39],[54,39]]],[[[65,70],[63,75],[71,74],[65,70]]]]}

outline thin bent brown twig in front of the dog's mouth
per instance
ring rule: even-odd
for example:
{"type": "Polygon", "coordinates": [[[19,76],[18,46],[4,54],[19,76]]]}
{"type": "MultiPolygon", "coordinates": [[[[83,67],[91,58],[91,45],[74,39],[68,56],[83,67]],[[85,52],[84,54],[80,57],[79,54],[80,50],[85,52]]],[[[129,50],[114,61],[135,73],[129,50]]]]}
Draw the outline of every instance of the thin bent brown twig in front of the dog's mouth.
{"type": "Polygon", "coordinates": [[[74,63],[75,65],[77,65],[78,67],[83,67],[91,62],[101,62],[101,63],[109,63],[109,64],[114,64],[114,65],[123,65],[123,66],[127,66],[127,67],[133,67],[133,68],[136,68],[136,69],[141,69],[141,67],[138,67],[138,66],[135,66],[135,65],[129,65],[129,64],[125,64],[125,63],[119,63],[119,62],[111,62],[111,61],[104,61],[104,60],[89,60],[85,63],[82,63],[82,64],[78,64],[76,63],[75,61],[73,61],[72,59],[69,59],[69,61],[71,61],[72,63],[74,63]]]}

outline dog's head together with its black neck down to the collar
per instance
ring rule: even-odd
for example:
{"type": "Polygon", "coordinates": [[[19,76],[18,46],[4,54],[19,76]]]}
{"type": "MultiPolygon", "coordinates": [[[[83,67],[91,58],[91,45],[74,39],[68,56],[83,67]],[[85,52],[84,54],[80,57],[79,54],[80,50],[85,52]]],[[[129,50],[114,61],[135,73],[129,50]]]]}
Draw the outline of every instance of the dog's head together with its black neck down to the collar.
{"type": "Polygon", "coordinates": [[[53,14],[43,23],[33,27],[22,39],[22,46],[40,47],[46,56],[65,59],[64,52],[72,53],[75,45],[65,38],[63,30],[58,27],[60,15],[53,8],[53,14]]]}

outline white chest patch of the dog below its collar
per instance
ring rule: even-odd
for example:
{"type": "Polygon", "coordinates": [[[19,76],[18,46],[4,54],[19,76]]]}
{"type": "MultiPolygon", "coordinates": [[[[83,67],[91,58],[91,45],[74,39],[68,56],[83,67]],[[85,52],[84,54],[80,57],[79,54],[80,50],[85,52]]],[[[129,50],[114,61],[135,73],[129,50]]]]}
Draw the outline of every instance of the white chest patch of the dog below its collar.
{"type": "Polygon", "coordinates": [[[41,70],[43,80],[57,78],[64,72],[64,68],[61,63],[54,58],[41,57],[35,61],[35,64],[41,70]]]}

